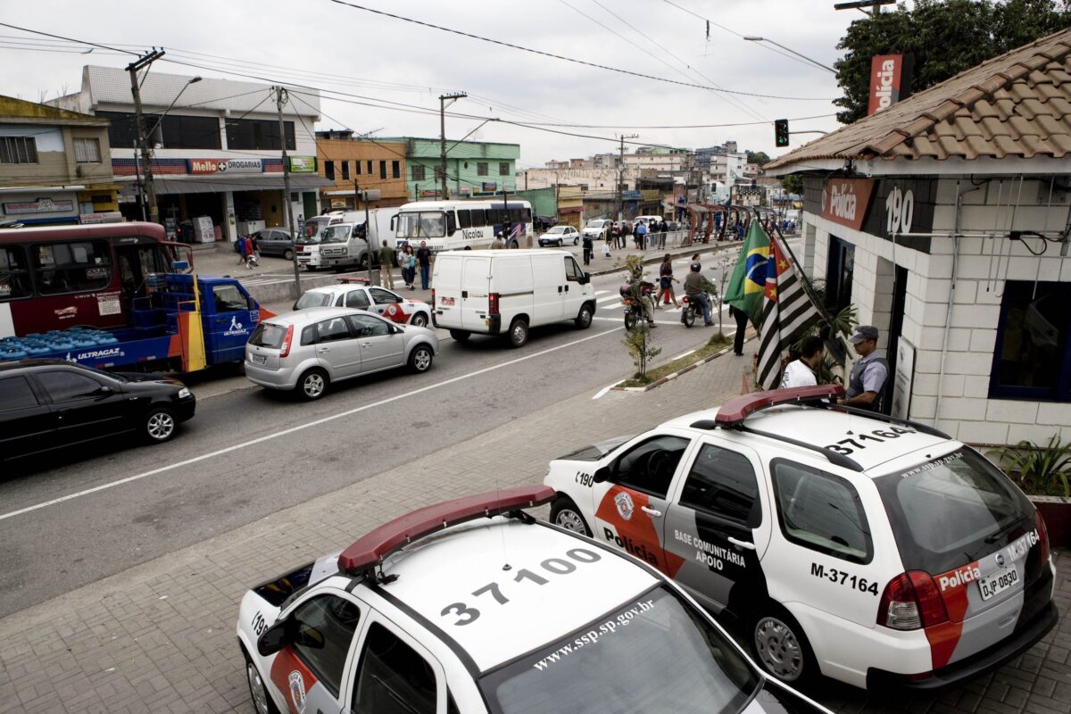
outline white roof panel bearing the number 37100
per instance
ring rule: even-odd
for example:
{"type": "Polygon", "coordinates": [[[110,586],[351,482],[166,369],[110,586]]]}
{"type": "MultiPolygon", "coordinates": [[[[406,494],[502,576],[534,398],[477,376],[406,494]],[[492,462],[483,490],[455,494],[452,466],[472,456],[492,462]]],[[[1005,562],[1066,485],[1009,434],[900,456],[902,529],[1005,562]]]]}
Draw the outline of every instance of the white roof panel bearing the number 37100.
{"type": "Polygon", "coordinates": [[[480,671],[549,644],[660,582],[628,556],[506,518],[423,538],[391,556],[383,573],[398,576],[383,590],[453,638],[480,671]],[[469,618],[455,603],[479,617],[455,625],[469,618]]]}

